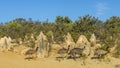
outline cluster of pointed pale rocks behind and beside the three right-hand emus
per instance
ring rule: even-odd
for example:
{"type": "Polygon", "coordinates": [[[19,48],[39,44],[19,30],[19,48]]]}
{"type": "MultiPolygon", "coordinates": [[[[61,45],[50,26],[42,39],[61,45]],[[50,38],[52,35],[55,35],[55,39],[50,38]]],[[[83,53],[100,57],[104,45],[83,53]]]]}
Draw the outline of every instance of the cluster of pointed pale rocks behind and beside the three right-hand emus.
{"type": "MultiPolygon", "coordinates": [[[[91,58],[95,55],[95,51],[97,49],[104,47],[103,44],[100,44],[97,41],[98,40],[96,39],[95,34],[92,34],[89,40],[84,35],[80,35],[77,42],[73,41],[73,38],[71,37],[70,33],[68,33],[65,37],[66,47],[68,47],[68,45],[70,45],[70,47],[71,47],[70,49],[83,48],[84,46],[86,46],[83,53],[85,55],[87,55],[87,57],[89,57],[89,58],[91,58]]],[[[110,53],[115,52],[116,46],[117,45],[110,48],[110,53]]],[[[102,51],[104,51],[104,50],[102,50],[102,51]]]]}

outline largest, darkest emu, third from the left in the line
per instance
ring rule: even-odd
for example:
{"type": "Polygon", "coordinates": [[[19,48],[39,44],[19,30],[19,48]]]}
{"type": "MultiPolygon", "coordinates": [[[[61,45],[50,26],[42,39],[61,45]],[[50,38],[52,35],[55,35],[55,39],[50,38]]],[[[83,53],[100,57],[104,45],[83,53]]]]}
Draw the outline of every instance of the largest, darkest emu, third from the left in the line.
{"type": "Polygon", "coordinates": [[[73,48],[68,53],[70,55],[69,58],[73,58],[74,60],[76,60],[76,58],[80,58],[80,56],[82,56],[84,49],[85,49],[85,46],[83,48],[73,48]]]}

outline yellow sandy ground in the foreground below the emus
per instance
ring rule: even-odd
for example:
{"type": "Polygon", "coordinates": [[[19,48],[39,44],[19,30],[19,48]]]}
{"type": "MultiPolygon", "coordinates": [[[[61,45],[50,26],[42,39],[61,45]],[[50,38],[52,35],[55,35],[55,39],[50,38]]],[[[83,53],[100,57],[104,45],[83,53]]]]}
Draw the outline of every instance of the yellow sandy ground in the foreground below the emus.
{"type": "Polygon", "coordinates": [[[12,52],[0,52],[0,68],[120,68],[120,59],[108,61],[65,59],[61,62],[55,58],[24,60],[23,56],[12,52]]]}

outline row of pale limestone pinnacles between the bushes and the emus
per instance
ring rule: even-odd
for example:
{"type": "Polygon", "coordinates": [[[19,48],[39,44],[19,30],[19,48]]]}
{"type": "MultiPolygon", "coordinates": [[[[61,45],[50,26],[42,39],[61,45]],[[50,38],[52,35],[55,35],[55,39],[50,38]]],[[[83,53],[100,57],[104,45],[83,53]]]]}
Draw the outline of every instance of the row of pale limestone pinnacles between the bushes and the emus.
{"type": "MultiPolygon", "coordinates": [[[[27,37],[26,37],[27,38],[27,37]]],[[[85,55],[90,55],[93,56],[94,55],[94,50],[97,48],[101,48],[101,44],[97,43],[96,41],[96,36],[95,34],[91,35],[91,38],[88,40],[84,35],[80,35],[77,42],[75,42],[71,36],[70,33],[68,33],[67,35],[65,35],[65,42],[62,45],[59,44],[50,44],[47,36],[43,34],[43,32],[40,32],[39,36],[35,39],[35,37],[33,36],[33,34],[31,35],[30,40],[33,41],[33,43],[35,43],[35,47],[39,47],[38,51],[37,51],[37,56],[44,58],[49,56],[49,52],[50,50],[58,50],[60,48],[62,48],[62,46],[64,46],[65,48],[67,48],[70,45],[70,49],[73,48],[83,48],[84,46],[86,46],[85,50],[83,51],[83,53],[85,55]]],[[[26,41],[28,43],[30,43],[31,41],[29,41],[29,39],[27,39],[26,41]],[[27,41],[28,40],[28,41],[27,41]]],[[[23,44],[22,41],[20,41],[19,44],[23,44]]],[[[13,43],[13,40],[10,37],[3,37],[0,39],[0,50],[4,51],[4,50],[11,50],[14,49],[14,47],[18,45],[15,43],[13,43]]],[[[30,44],[31,45],[31,44],[30,44]]],[[[28,48],[29,50],[29,48],[28,48]]],[[[113,49],[112,49],[113,50],[113,49]]],[[[27,51],[27,49],[23,50],[24,53],[27,51]]],[[[22,52],[23,52],[22,51],[22,52]]]]}

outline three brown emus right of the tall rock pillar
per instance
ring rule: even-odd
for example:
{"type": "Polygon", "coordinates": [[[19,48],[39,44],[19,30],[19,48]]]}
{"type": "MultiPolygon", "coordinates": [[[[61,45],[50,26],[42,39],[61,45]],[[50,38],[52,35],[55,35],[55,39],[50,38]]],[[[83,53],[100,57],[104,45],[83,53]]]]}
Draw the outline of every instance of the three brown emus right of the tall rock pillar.
{"type": "MultiPolygon", "coordinates": [[[[85,57],[85,55],[83,54],[83,51],[85,50],[86,45],[83,46],[83,48],[73,48],[70,50],[70,45],[68,46],[68,49],[66,48],[62,48],[60,50],[58,50],[58,54],[60,55],[59,57],[56,57],[56,59],[58,61],[60,61],[61,59],[64,58],[68,58],[68,59],[74,59],[76,60],[77,58],[80,57],[85,57]]],[[[102,58],[104,57],[104,55],[106,55],[108,52],[104,51],[102,49],[98,49],[94,51],[94,56],[91,57],[91,59],[94,58],[102,58]]],[[[89,56],[90,54],[88,54],[87,56],[89,56]]]]}

